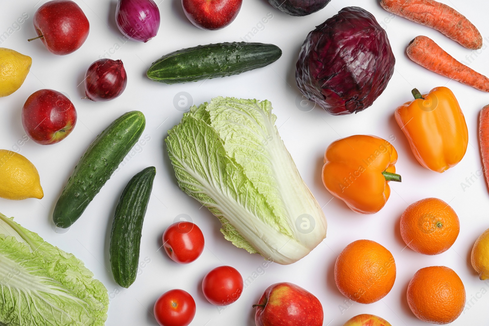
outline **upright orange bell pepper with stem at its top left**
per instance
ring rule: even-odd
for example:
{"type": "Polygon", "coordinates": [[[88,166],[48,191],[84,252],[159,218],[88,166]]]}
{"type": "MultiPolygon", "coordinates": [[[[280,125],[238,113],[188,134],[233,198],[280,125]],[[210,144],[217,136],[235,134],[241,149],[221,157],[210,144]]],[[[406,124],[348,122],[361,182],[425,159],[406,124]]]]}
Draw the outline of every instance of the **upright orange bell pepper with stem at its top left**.
{"type": "Polygon", "coordinates": [[[467,151],[468,132],[464,113],[447,87],[433,88],[396,109],[396,121],[416,159],[427,169],[442,173],[462,160],[467,151]]]}

